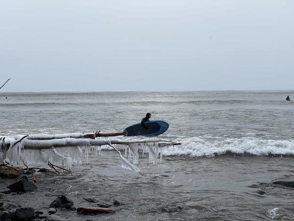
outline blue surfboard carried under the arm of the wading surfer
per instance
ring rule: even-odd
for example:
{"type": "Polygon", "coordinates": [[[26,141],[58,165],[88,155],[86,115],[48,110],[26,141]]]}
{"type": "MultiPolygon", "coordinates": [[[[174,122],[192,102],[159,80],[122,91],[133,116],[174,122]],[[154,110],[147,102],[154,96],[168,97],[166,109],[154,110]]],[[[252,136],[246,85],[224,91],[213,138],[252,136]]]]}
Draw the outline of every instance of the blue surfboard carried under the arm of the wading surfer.
{"type": "Polygon", "coordinates": [[[131,125],[123,130],[125,136],[158,136],[169,129],[169,124],[162,120],[150,120],[145,122],[148,129],[145,129],[141,123],[131,125]]]}

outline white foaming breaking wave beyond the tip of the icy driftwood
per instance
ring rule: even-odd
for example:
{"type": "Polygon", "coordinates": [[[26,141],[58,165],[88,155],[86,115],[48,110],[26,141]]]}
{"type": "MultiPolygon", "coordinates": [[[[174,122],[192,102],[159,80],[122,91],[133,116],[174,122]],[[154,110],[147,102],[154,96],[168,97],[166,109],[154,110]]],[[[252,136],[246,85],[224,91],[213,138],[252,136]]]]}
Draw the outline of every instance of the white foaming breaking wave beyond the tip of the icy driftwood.
{"type": "Polygon", "coordinates": [[[165,149],[163,154],[192,157],[215,157],[225,154],[255,156],[294,156],[294,140],[257,138],[184,138],[180,146],[165,149]]]}

